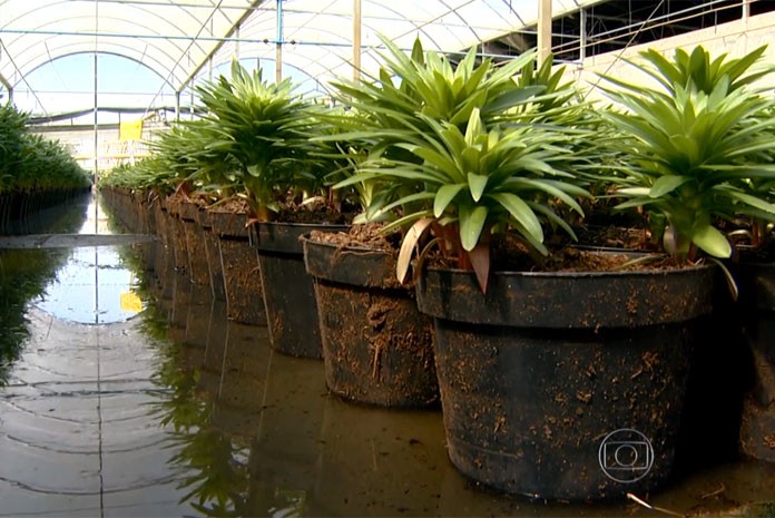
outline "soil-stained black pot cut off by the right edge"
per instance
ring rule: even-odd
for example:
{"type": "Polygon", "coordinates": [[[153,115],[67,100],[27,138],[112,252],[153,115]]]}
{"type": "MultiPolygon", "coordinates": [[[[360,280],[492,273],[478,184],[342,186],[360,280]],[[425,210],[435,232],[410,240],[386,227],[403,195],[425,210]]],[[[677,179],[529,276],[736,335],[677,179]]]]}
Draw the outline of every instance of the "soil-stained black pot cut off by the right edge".
{"type": "Polygon", "coordinates": [[[740,448],[748,458],[775,462],[775,264],[743,264],[737,273],[753,369],[740,448]]]}

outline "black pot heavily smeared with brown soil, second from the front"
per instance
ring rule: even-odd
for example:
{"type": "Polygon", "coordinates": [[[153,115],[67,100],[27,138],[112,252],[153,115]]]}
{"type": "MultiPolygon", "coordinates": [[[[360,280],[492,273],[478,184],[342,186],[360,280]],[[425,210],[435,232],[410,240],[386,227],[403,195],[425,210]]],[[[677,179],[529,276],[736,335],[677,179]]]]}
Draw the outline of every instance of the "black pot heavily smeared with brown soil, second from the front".
{"type": "Polygon", "coordinates": [[[382,407],[436,403],[433,321],[418,311],[414,291],[398,284],[394,257],[308,238],[303,245],[328,390],[382,407]]]}

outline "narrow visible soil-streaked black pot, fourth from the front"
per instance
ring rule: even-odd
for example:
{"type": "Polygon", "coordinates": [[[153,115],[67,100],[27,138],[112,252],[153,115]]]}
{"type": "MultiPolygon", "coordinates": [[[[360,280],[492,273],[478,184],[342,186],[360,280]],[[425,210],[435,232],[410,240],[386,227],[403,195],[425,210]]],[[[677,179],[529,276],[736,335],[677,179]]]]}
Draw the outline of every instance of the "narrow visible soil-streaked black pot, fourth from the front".
{"type": "Polygon", "coordinates": [[[245,226],[247,214],[212,211],[209,221],[218,236],[228,317],[244,324],[266,325],[258,261],[245,226]]]}

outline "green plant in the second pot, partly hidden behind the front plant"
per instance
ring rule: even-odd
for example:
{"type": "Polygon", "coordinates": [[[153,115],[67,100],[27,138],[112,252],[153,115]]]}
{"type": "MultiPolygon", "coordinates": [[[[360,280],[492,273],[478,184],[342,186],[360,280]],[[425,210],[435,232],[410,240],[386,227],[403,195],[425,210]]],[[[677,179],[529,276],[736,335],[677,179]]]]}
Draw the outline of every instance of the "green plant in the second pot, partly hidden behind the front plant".
{"type": "MultiPolygon", "coordinates": [[[[425,51],[421,41],[414,41],[411,55],[406,55],[386,38],[380,37],[386,48],[381,55],[384,65],[377,77],[365,80],[334,81],[334,97],[350,110],[333,117],[341,130],[326,137],[340,140],[341,147],[354,160],[352,173],[360,164],[382,158],[401,162],[421,162],[404,149],[406,134],[432,133],[431,121],[447,121],[461,131],[474,109],[484,124],[504,119],[507,110],[524,105],[542,94],[545,85],[517,85],[513,76],[526,66],[533,66],[534,56],[524,53],[497,67],[491,59],[478,62],[475,49],[471,49],[457,65],[433,51],[425,51]]],[[[336,188],[355,185],[361,193],[364,214],[357,223],[390,219],[385,207],[396,197],[415,193],[420,185],[411,182],[383,180],[379,176],[359,176],[359,182],[345,180],[336,188]]]]}

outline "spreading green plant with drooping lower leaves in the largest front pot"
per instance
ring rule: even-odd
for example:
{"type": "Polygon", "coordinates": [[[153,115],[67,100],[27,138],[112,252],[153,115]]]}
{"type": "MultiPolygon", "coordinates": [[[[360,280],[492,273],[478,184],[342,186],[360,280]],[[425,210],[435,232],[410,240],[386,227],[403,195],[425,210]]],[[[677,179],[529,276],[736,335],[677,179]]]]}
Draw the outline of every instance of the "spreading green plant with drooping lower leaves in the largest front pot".
{"type": "Polygon", "coordinates": [[[582,214],[576,198],[589,195],[567,169],[572,136],[547,126],[488,128],[478,108],[471,111],[464,133],[449,121],[423,118],[430,133],[408,134],[405,141],[396,144],[418,160],[377,160],[354,176],[422,185],[421,190],[385,207],[404,211],[385,231],[411,225],[399,256],[401,282],[414,246],[428,229],[444,255],[475,272],[482,291],[487,291],[493,234],[512,233],[536,256],[549,253],[543,244],[545,223],[573,235],[558,207],[582,214]]]}

